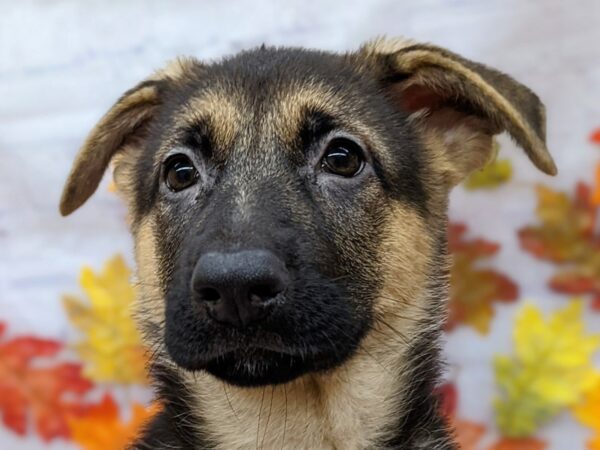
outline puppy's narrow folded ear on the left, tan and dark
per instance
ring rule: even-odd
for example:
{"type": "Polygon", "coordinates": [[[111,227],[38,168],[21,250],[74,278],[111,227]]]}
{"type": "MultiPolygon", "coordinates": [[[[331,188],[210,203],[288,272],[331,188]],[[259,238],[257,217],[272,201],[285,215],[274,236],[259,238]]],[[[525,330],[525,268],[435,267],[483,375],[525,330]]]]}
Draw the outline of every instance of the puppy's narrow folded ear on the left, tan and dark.
{"type": "Polygon", "coordinates": [[[127,91],[100,119],[79,151],[60,200],[63,216],[71,214],[94,193],[115,153],[144,134],[160,104],[157,80],[127,91]]]}

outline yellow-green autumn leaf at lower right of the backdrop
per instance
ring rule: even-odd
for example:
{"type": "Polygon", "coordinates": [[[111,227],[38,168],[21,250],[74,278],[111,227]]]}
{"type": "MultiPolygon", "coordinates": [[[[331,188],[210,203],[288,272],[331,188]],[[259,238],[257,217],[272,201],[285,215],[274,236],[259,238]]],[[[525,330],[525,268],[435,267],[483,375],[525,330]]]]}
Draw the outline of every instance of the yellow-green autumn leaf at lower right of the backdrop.
{"type": "Polygon", "coordinates": [[[600,335],[585,332],[582,310],[581,301],[573,300],[548,319],[533,305],[519,312],[515,354],[494,361],[501,392],[494,409],[504,436],[531,436],[598,380],[591,358],[600,348],[600,335]]]}

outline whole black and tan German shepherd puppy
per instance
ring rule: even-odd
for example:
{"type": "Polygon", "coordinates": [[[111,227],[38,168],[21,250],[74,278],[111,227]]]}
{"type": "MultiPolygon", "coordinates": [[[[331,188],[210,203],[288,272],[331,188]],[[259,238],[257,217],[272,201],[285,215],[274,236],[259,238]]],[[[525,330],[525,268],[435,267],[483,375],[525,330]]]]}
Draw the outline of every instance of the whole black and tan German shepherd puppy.
{"type": "Polygon", "coordinates": [[[448,193],[544,108],[427,44],[179,59],[127,91],[60,204],[109,163],[162,412],[132,449],[454,449],[438,414],[448,193]]]}

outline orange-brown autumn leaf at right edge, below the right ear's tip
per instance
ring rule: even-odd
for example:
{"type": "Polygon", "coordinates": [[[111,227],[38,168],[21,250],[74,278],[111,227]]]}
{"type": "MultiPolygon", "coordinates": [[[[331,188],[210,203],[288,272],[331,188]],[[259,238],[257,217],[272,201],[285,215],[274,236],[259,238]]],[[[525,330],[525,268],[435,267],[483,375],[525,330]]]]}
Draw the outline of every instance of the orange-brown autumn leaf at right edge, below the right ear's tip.
{"type": "Polygon", "coordinates": [[[579,183],[575,196],[537,187],[540,224],[519,230],[521,247],[537,258],[559,265],[549,286],[570,295],[592,294],[600,309],[600,237],[598,206],[589,186],[579,183]]]}

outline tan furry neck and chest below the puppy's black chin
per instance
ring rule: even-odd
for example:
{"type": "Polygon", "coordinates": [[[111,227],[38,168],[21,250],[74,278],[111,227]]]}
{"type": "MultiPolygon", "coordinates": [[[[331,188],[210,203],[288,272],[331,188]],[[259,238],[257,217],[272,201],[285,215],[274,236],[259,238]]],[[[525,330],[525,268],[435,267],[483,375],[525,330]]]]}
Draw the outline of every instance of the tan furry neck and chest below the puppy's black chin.
{"type": "Polygon", "coordinates": [[[207,374],[186,384],[202,433],[219,449],[362,449],[402,413],[401,355],[385,353],[361,351],[330,373],[282,385],[239,388],[207,374]]]}

